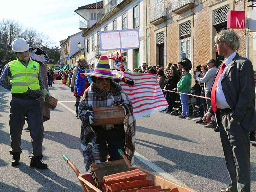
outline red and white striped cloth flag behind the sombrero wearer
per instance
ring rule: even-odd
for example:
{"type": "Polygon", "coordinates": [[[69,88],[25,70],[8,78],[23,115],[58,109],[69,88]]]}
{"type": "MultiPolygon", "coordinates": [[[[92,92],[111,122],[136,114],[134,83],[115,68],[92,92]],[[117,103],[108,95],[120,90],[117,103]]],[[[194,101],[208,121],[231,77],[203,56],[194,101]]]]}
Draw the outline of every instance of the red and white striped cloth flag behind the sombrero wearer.
{"type": "Polygon", "coordinates": [[[135,83],[130,86],[123,81],[119,82],[132,101],[135,118],[162,111],[168,106],[156,80],[156,74],[125,71],[125,78],[135,83]]]}

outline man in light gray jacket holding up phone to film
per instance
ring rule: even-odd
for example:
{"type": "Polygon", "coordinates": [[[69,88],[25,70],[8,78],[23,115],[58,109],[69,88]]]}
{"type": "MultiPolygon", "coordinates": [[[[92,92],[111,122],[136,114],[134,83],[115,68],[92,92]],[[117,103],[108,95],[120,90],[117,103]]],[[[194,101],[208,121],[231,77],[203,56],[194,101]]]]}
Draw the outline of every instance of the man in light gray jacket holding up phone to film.
{"type": "MultiPolygon", "coordinates": [[[[207,61],[207,68],[208,71],[204,75],[202,72],[200,73],[200,77],[197,75],[193,75],[193,78],[196,79],[196,81],[200,83],[204,83],[204,91],[205,91],[205,97],[210,97],[210,91],[212,88],[213,81],[215,79],[216,73],[218,71],[216,67],[216,60],[215,59],[210,59],[207,61]]],[[[207,99],[207,109],[209,110],[211,106],[211,100],[207,99]]],[[[216,121],[212,121],[209,125],[205,125],[204,127],[207,128],[216,128],[217,124],[216,121]]]]}

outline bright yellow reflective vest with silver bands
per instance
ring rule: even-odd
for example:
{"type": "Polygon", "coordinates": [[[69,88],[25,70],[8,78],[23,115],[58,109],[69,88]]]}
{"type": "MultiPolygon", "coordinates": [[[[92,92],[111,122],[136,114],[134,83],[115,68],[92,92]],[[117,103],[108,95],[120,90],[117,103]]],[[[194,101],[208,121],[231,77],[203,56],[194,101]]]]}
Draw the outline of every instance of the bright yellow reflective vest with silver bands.
{"type": "Polygon", "coordinates": [[[14,60],[8,63],[12,74],[11,93],[24,93],[28,88],[32,90],[40,89],[38,73],[39,63],[29,60],[25,67],[20,61],[14,60]]]}

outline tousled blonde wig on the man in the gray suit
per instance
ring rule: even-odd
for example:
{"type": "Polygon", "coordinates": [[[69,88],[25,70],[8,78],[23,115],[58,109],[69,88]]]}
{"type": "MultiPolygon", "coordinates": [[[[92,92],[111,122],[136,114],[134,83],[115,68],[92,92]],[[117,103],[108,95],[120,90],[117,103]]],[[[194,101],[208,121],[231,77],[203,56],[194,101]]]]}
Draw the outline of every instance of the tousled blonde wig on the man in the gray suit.
{"type": "Polygon", "coordinates": [[[215,43],[227,42],[230,49],[237,51],[240,47],[240,37],[234,30],[221,30],[214,38],[215,43]]]}

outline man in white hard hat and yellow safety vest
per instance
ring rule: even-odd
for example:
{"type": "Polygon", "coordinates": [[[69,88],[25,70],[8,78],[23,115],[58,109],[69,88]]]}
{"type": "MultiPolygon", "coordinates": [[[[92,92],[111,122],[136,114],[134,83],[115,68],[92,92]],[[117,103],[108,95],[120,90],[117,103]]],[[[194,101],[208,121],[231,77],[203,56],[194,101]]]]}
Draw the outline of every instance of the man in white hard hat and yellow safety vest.
{"type": "Polygon", "coordinates": [[[9,62],[3,68],[0,76],[0,86],[11,91],[10,102],[10,136],[12,166],[20,164],[21,132],[27,120],[30,135],[33,139],[32,153],[30,155],[30,167],[47,169],[47,164],[42,162],[42,143],[44,139],[43,117],[41,104],[38,98],[51,96],[45,89],[40,73],[39,63],[29,59],[29,46],[24,39],[16,39],[12,44],[12,50],[17,60],[9,62]],[[12,78],[12,82],[10,82],[12,78]]]}

